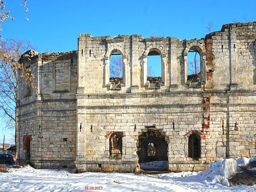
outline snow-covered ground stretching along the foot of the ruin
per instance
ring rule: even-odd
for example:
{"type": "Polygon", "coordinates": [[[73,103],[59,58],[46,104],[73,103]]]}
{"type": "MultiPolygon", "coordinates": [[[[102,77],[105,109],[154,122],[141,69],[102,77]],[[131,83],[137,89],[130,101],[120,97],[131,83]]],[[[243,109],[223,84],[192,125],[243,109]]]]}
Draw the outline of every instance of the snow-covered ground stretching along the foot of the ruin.
{"type": "Polygon", "coordinates": [[[226,174],[223,170],[229,169],[229,166],[223,164],[223,161],[215,162],[211,169],[204,172],[158,175],[93,172],[71,174],[70,169],[34,169],[26,166],[20,169],[11,168],[10,173],[0,173],[0,191],[256,191],[256,185],[250,187],[222,185],[220,180],[224,176],[220,176],[222,177],[219,178],[220,180],[216,178],[219,174],[226,174]],[[114,181],[118,181],[119,184],[114,181]],[[85,190],[85,187],[89,189],[102,187],[102,189],[85,190]]]}

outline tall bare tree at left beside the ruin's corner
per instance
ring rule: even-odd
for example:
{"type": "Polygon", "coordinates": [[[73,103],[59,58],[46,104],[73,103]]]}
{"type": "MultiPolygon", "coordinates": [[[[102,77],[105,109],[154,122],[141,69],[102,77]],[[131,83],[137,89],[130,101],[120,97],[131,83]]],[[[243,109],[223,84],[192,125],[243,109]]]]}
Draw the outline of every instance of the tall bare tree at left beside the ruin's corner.
{"type": "Polygon", "coordinates": [[[0,44],[0,115],[7,129],[15,127],[16,145],[18,84],[24,80],[28,87],[36,88],[31,70],[25,70],[23,63],[18,62],[21,54],[29,49],[35,48],[27,39],[10,38],[0,44]]]}

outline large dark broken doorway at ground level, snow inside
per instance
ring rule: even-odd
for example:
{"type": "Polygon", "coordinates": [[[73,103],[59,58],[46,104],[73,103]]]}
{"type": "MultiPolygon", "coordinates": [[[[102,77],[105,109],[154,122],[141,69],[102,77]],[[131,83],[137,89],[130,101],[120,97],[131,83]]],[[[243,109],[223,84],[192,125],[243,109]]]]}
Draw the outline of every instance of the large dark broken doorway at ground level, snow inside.
{"type": "Polygon", "coordinates": [[[138,162],[142,169],[164,170],[167,168],[168,144],[158,130],[139,133],[137,140],[138,162]]]}

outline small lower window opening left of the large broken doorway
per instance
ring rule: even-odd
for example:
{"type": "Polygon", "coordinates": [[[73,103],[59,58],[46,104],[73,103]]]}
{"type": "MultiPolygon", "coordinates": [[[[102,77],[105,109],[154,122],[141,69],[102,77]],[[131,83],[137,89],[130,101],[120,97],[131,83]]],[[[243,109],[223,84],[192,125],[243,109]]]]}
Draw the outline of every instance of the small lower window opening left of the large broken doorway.
{"type": "Polygon", "coordinates": [[[113,133],[109,138],[109,153],[111,157],[122,157],[123,139],[122,133],[113,133]]]}

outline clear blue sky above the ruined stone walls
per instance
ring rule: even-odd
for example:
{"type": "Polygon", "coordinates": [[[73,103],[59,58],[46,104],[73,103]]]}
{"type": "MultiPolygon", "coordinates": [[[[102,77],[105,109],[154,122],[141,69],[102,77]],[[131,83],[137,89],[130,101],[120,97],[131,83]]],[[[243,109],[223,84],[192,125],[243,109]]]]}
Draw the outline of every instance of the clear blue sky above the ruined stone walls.
{"type": "MultiPolygon", "coordinates": [[[[256,20],[256,3],[251,1],[27,1],[29,21],[19,0],[6,0],[14,21],[2,24],[2,37],[27,38],[40,53],[77,49],[79,33],[112,37],[142,34],[200,39],[207,20],[214,19],[216,31],[225,23],[256,20]]],[[[1,122],[1,120],[0,120],[1,122]]],[[[0,130],[0,143],[3,134],[0,130]]],[[[8,133],[7,133],[8,134],[8,133]]]]}

